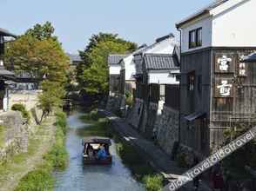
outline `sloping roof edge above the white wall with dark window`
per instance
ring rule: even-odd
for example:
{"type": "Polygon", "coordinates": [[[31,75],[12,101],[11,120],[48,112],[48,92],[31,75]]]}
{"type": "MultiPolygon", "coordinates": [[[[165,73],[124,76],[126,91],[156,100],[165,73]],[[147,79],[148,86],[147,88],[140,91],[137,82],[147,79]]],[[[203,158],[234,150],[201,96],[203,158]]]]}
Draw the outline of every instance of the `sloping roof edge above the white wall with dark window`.
{"type": "Polygon", "coordinates": [[[191,16],[187,16],[187,17],[185,17],[185,19],[181,20],[179,23],[176,23],[176,28],[179,29],[180,26],[182,26],[183,24],[188,23],[199,16],[203,16],[203,15],[209,13],[210,10],[213,10],[214,8],[218,7],[219,5],[226,3],[227,1],[229,1],[229,0],[215,0],[214,2],[210,3],[205,8],[198,10],[196,13],[192,14],[191,16]]]}

